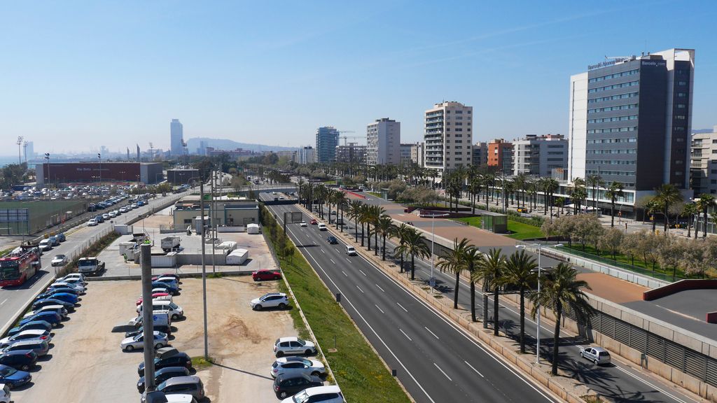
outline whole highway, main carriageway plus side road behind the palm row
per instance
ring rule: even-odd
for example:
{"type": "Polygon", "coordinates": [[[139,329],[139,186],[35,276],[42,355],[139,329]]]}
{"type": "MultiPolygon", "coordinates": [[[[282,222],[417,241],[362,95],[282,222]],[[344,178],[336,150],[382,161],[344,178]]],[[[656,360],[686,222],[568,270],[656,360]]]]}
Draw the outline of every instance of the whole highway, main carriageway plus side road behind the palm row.
{"type": "MultiPolygon", "coordinates": [[[[298,211],[298,207],[293,205],[270,206],[270,209],[279,219],[282,219],[283,212],[298,211]]],[[[514,374],[514,371],[499,364],[492,352],[484,351],[472,338],[407,293],[373,264],[361,257],[347,257],[342,243],[328,245],[328,232],[319,232],[315,226],[289,225],[287,228],[292,240],[329,288],[345,296],[344,307],[384,360],[399,369],[399,378],[417,401],[468,402],[478,395],[489,401],[501,400],[498,397],[507,400],[516,390],[520,390],[523,396],[532,393],[531,396],[540,399],[551,399],[542,389],[525,381],[522,375],[514,374]],[[490,371],[481,368],[490,368],[490,371]],[[516,379],[523,379],[520,382],[523,389],[517,389],[516,379]],[[490,387],[486,386],[488,384],[490,387]]],[[[387,250],[393,247],[387,242],[387,250]]],[[[417,260],[417,280],[427,283],[429,270],[428,261],[417,260]]],[[[434,275],[439,284],[452,285],[455,282],[452,275],[438,270],[434,271],[434,275]]],[[[445,298],[452,298],[450,289],[445,291],[445,298]]],[[[470,309],[470,294],[465,281],[461,283],[459,303],[462,308],[470,309]]],[[[477,305],[480,316],[483,310],[480,293],[477,305]]],[[[489,308],[492,310],[492,302],[489,308]]],[[[512,334],[518,332],[517,311],[512,305],[500,305],[503,330],[508,328],[512,334]]],[[[529,346],[534,352],[536,325],[530,319],[526,319],[526,331],[530,335],[529,346]]],[[[546,359],[550,356],[552,340],[550,326],[541,326],[541,339],[541,355],[546,359]]],[[[566,341],[561,348],[562,369],[615,402],[699,401],[665,381],[622,362],[613,360],[609,366],[594,366],[580,359],[578,352],[578,344],[566,341]]]]}

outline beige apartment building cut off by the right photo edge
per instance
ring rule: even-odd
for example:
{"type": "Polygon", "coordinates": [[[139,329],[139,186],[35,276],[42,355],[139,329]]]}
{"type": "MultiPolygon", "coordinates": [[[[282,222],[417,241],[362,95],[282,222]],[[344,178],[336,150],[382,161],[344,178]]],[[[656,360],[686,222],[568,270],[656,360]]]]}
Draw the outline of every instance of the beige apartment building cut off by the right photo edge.
{"type": "Polygon", "coordinates": [[[693,133],[690,141],[690,182],[694,197],[717,194],[717,126],[712,133],[693,133]]]}

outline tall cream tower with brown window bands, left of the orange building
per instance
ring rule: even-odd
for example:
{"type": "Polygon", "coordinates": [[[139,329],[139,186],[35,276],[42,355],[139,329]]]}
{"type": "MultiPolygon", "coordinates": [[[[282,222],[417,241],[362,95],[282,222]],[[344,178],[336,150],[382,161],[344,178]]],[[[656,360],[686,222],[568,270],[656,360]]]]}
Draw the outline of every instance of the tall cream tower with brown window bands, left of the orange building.
{"type": "Polygon", "coordinates": [[[426,168],[470,166],[473,143],[473,107],[457,102],[433,105],[425,112],[426,168]]]}

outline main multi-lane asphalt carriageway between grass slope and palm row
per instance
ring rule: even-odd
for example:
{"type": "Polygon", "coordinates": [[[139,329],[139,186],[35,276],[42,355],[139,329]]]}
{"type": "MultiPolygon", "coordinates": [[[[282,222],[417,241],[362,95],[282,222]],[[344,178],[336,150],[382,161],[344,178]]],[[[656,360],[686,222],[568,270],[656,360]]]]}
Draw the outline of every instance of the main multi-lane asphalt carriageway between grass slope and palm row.
{"type": "MultiPolygon", "coordinates": [[[[284,212],[298,211],[294,205],[269,208],[280,221],[284,212]]],[[[329,245],[329,232],[297,224],[287,229],[331,292],[341,293],[343,307],[397,369],[416,402],[560,402],[378,267],[363,257],[348,257],[341,243],[329,245]]]]}

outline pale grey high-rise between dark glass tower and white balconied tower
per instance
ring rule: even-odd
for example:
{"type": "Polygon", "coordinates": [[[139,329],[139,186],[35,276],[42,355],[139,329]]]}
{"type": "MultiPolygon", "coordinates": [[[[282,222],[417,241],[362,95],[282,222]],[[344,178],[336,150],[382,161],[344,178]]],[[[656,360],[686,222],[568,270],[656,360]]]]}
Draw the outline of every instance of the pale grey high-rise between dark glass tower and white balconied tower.
{"type": "Polygon", "coordinates": [[[366,163],[398,165],[401,161],[401,122],[376,119],[366,126],[366,163]]]}

